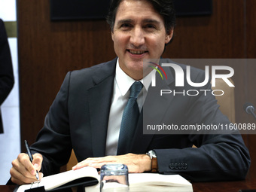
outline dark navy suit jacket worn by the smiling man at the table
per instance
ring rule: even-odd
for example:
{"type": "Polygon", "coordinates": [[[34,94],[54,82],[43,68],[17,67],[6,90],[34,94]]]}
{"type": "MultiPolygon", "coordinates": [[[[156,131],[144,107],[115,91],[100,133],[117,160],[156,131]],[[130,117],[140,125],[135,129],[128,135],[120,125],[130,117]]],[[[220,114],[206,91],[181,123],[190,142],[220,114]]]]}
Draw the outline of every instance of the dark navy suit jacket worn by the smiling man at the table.
{"type": "MultiPolygon", "coordinates": [[[[58,172],[59,166],[68,162],[72,148],[78,162],[87,157],[105,156],[116,61],[114,59],[66,75],[45,118],[44,127],[31,146],[34,153],[39,152],[44,156],[44,175],[58,172]]],[[[166,59],[165,62],[171,61],[166,59]]],[[[167,84],[157,89],[175,87],[172,69],[166,68],[165,71],[169,77],[167,84]]],[[[203,71],[191,69],[193,82],[202,82],[203,79],[203,71]]],[[[185,84],[184,89],[190,88],[185,84]]],[[[210,89],[211,84],[204,88],[210,89]]],[[[150,99],[154,99],[156,93],[148,93],[145,105],[152,105],[154,110],[142,110],[130,152],[145,154],[154,149],[160,173],[179,174],[192,181],[245,178],[250,157],[240,135],[143,134],[144,115],[156,117],[154,120],[157,123],[175,123],[179,126],[195,122],[230,123],[218,110],[214,96],[167,96],[160,98],[160,105],[163,106],[157,110],[154,105],[159,103],[154,104],[150,99]],[[198,148],[191,148],[193,144],[198,148]]]]}

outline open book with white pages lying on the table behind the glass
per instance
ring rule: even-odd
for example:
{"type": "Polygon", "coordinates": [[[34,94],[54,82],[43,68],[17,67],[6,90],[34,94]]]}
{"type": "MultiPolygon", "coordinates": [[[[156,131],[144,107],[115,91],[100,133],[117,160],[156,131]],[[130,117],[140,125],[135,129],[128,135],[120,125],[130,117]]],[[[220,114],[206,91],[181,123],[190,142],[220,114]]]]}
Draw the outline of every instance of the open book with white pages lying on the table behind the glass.
{"type": "MultiPolygon", "coordinates": [[[[130,191],[184,191],[193,192],[192,184],[180,175],[161,175],[158,173],[130,173],[130,191]]],[[[83,185],[86,192],[99,192],[99,175],[95,168],[84,167],[75,171],[62,172],[41,179],[39,184],[23,184],[17,192],[31,187],[44,186],[46,191],[83,185]],[[88,187],[90,186],[90,187],[88,187]]]]}

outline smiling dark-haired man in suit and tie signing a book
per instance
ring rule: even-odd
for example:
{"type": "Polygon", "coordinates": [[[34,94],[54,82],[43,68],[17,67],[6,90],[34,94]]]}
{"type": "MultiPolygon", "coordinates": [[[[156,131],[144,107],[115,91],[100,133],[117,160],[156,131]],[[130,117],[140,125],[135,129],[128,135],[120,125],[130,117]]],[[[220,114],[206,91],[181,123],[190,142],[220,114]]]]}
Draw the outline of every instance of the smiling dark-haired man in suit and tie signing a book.
{"type": "MultiPolygon", "coordinates": [[[[147,95],[151,88],[144,81],[151,71],[143,73],[143,60],[160,60],[172,39],[174,13],[170,0],[111,2],[108,23],[117,58],[66,75],[44,127],[31,146],[33,162],[26,154],[20,154],[12,163],[11,181],[35,181],[36,170],[40,177],[41,173],[59,172],[59,167],[68,162],[72,148],[80,162],[73,169],[124,163],[129,172],[179,174],[192,181],[245,178],[250,157],[239,134],[143,134],[142,108],[147,98],[142,93],[147,95]],[[136,93],[132,93],[133,84],[136,93]],[[127,109],[130,98],[136,101],[134,112],[127,109]],[[191,148],[192,145],[198,148],[191,148]]],[[[172,76],[171,69],[166,73],[172,76]]],[[[191,81],[202,82],[203,71],[193,68],[190,73],[191,81]]],[[[173,77],[168,81],[169,87],[175,84],[173,77]]],[[[211,89],[211,84],[205,88],[211,89]]],[[[163,106],[163,120],[179,124],[230,123],[218,110],[214,96],[177,97],[163,106]]],[[[159,115],[154,110],[152,113],[152,117],[159,115]]]]}

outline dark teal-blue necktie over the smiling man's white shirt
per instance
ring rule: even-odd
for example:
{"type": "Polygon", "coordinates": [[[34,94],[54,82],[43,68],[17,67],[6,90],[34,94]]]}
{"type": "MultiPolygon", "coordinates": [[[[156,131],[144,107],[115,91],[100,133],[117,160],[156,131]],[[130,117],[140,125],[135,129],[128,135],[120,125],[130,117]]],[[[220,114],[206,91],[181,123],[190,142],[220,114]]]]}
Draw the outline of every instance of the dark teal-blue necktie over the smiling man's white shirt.
{"type": "Polygon", "coordinates": [[[127,154],[132,142],[139,119],[139,107],[137,97],[142,90],[143,84],[136,81],[130,87],[130,97],[123,110],[123,117],[120,126],[120,133],[117,146],[117,154],[127,154]]]}

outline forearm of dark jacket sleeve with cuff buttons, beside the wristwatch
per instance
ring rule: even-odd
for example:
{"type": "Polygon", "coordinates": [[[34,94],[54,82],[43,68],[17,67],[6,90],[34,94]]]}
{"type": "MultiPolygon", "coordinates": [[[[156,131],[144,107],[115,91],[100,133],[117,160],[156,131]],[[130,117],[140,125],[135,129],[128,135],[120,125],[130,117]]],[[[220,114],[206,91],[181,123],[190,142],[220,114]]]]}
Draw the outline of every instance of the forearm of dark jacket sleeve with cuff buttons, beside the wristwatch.
{"type": "Polygon", "coordinates": [[[156,149],[159,172],[178,174],[190,181],[227,181],[245,178],[250,165],[248,149],[237,134],[190,136],[198,148],[156,149]]]}

